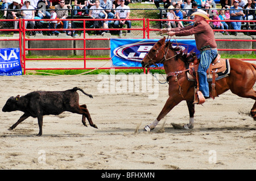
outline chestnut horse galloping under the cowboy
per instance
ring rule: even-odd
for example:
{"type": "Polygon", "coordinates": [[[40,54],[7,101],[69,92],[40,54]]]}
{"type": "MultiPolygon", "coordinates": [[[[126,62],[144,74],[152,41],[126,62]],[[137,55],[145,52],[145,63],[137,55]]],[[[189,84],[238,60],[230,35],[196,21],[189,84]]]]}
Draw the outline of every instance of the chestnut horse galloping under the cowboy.
{"type": "MultiPolygon", "coordinates": [[[[141,64],[143,68],[148,68],[151,65],[162,63],[169,83],[169,98],[166,101],[162,111],[151,124],[146,125],[144,129],[150,131],[156,127],[161,119],[167,115],[177,104],[182,100],[187,102],[189,111],[189,123],[183,126],[172,124],[174,128],[192,129],[194,123],[195,105],[193,99],[195,95],[195,82],[188,81],[187,64],[189,64],[189,56],[184,56],[184,53],[178,48],[172,48],[171,42],[165,43],[166,38],[159,40],[143,58],[141,64]],[[180,52],[179,52],[180,50],[180,52]]],[[[186,54],[187,55],[187,54],[186,54]]],[[[244,62],[237,58],[230,58],[230,73],[228,77],[224,77],[216,81],[217,95],[220,95],[228,90],[233,94],[242,98],[251,98],[256,100],[256,92],[253,90],[256,81],[256,65],[244,62]]],[[[211,82],[209,82],[210,84],[211,82]]],[[[211,86],[209,86],[211,90],[211,86]]],[[[256,102],[251,109],[251,116],[256,120],[256,102]]]]}

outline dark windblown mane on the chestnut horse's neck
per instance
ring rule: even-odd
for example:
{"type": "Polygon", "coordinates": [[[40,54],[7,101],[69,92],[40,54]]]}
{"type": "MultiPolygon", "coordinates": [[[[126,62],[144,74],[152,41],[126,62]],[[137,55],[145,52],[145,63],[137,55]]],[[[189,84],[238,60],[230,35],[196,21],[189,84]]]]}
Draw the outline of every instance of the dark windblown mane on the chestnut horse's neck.
{"type": "Polygon", "coordinates": [[[188,53],[188,49],[183,50],[179,46],[172,47],[172,42],[170,40],[166,43],[166,47],[170,48],[171,50],[174,50],[177,53],[176,60],[178,60],[178,58],[180,58],[180,60],[184,61],[185,63],[186,62],[188,62],[188,63],[192,62],[193,58],[196,54],[194,52],[194,50],[191,50],[188,53]]]}

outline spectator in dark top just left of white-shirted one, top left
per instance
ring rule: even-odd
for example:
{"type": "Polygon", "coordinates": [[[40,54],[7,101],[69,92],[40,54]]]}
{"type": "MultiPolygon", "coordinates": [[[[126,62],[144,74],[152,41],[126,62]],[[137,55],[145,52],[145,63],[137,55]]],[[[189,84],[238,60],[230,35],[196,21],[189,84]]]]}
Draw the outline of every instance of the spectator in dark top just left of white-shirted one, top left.
{"type": "MultiPolygon", "coordinates": [[[[19,11],[21,8],[21,6],[19,5],[20,3],[21,3],[20,0],[13,0],[13,3],[11,3],[8,6],[8,9],[10,11],[7,11],[6,19],[19,19],[20,18],[20,11],[19,11]],[[13,10],[13,11],[11,11],[11,10],[13,10]]],[[[13,22],[13,24],[14,24],[14,29],[17,29],[19,22],[15,21],[15,22],[13,22]]]]}

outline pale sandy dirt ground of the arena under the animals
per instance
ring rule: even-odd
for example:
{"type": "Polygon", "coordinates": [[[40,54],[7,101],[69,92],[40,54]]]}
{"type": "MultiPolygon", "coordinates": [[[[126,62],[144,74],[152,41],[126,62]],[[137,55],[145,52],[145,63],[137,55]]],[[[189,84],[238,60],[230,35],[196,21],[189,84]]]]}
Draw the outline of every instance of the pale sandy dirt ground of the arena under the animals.
{"type": "Polygon", "coordinates": [[[171,125],[188,123],[188,109],[181,102],[154,131],[145,132],[143,127],[156,119],[168,98],[168,85],[157,83],[154,97],[143,92],[142,81],[122,77],[111,82],[110,76],[0,77],[0,169],[256,169],[256,122],[249,115],[253,100],[228,91],[196,105],[195,128],[188,131],[171,125]],[[103,79],[109,90],[106,84],[102,90],[103,79]],[[129,83],[134,91],[118,90],[129,83]],[[41,137],[32,117],[7,130],[23,114],[2,112],[10,96],[76,86],[94,96],[77,91],[98,129],[84,127],[81,115],[64,112],[44,116],[41,137]]]}

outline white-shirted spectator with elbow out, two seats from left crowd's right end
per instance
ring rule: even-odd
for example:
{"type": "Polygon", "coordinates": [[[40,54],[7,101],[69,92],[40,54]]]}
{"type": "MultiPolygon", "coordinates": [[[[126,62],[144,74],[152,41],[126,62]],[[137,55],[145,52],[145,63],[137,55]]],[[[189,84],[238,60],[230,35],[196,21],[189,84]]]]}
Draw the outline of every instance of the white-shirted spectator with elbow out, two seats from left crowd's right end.
{"type": "MultiPolygon", "coordinates": [[[[102,7],[100,7],[100,0],[96,0],[95,5],[90,7],[90,9],[89,9],[89,16],[92,19],[101,19],[99,16],[100,12],[102,12],[105,15],[105,19],[108,19],[108,14],[106,14],[104,9],[102,7]]],[[[98,21],[98,20],[93,21],[93,28],[100,28],[102,26],[103,26],[103,28],[109,28],[108,21],[98,21]]],[[[104,30],[101,35],[104,35],[104,33],[107,31],[108,30],[104,30]]]]}

